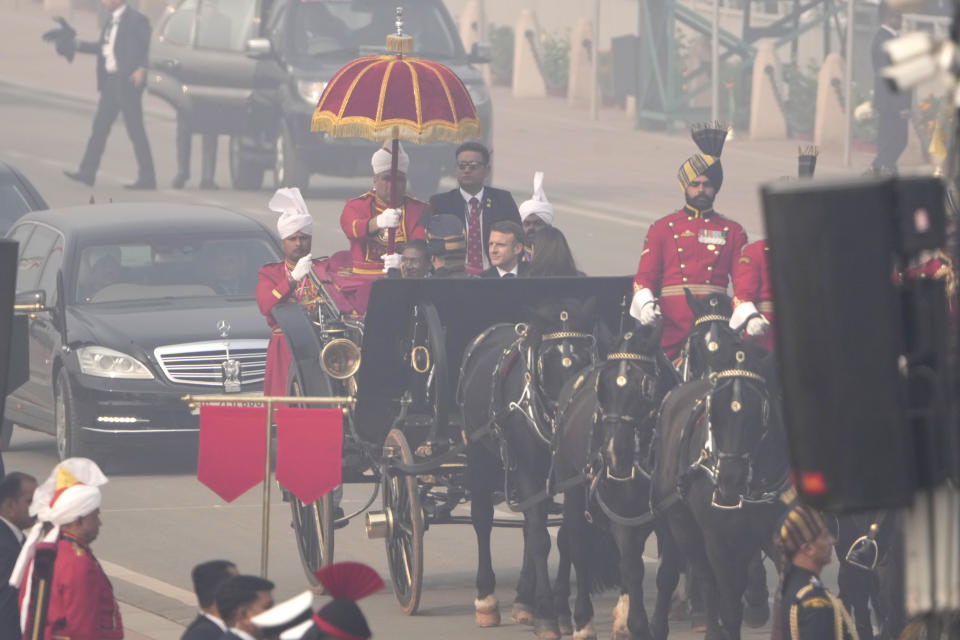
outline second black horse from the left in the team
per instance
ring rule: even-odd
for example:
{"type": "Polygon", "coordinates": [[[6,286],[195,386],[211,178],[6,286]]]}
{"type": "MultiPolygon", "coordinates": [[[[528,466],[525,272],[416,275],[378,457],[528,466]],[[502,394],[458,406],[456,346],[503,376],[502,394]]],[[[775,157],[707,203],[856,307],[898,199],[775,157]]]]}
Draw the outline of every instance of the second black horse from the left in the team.
{"type": "MultiPolygon", "coordinates": [[[[625,333],[619,349],[564,390],[567,401],[557,419],[552,481],[581,481],[564,492],[563,519],[577,572],[577,640],[596,638],[590,591],[597,549],[589,544],[590,522],[608,529],[616,541],[622,592],[617,609],[626,618],[630,637],[651,637],[643,603],[643,549],[655,529],[650,510],[652,446],[660,403],[677,382],[675,372],[664,370],[660,335],[659,328],[650,327],[625,333]]],[[[679,578],[678,558],[663,547],[661,543],[657,584],[662,593],[672,593],[679,578]]],[[[657,601],[654,638],[667,636],[669,593],[657,601]]]]}

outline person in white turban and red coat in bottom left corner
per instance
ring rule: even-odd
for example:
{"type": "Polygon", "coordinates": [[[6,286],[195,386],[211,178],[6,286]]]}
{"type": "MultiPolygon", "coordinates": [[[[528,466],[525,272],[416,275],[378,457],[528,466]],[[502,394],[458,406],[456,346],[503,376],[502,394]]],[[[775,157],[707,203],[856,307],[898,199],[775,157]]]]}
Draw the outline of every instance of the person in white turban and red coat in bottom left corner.
{"type": "Polygon", "coordinates": [[[113,588],[90,549],[100,532],[99,487],[106,483],[92,460],[68,458],[33,494],[37,524],[10,576],[20,589],[23,638],[123,638],[113,588]]]}

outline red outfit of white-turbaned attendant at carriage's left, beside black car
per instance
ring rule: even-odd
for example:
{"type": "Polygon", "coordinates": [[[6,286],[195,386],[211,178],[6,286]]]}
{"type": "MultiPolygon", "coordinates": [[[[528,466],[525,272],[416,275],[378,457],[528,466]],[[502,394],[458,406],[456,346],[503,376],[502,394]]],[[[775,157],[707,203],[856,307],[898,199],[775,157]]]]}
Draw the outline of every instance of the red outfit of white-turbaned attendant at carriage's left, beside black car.
{"type": "MultiPolygon", "coordinates": [[[[321,260],[313,261],[314,272],[319,272],[321,263],[321,260]]],[[[298,301],[308,311],[317,308],[317,292],[310,278],[304,278],[295,286],[290,286],[287,274],[292,268],[283,262],[271,262],[260,267],[257,272],[257,306],[273,329],[270,344],[267,346],[267,365],[263,374],[263,393],[268,396],[287,395],[287,369],[290,367],[290,350],[287,349],[283,333],[270,311],[274,306],[292,300],[298,301]]]]}

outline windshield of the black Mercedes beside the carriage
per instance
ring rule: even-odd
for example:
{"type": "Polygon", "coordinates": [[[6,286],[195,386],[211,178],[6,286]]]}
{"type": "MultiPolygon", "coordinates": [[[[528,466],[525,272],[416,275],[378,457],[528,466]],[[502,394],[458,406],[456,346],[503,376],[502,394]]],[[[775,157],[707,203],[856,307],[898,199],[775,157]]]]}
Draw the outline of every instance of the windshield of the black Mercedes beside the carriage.
{"type": "Polygon", "coordinates": [[[93,244],[80,251],[78,304],[161,298],[251,297],[257,269],[278,255],[264,236],[173,236],[93,244]]]}

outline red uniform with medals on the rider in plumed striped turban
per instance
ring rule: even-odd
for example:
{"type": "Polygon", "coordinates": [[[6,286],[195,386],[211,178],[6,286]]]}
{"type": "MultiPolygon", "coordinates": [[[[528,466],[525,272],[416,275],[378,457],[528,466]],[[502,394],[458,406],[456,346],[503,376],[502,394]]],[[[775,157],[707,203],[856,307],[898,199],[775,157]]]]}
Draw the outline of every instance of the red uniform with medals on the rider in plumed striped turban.
{"type": "Polygon", "coordinates": [[[747,234],[738,223],[690,205],[650,225],[633,289],[650,289],[660,299],[668,357],[676,355],[693,324],[684,287],[698,298],[726,293],[733,264],[746,243],[747,234]]]}

